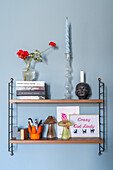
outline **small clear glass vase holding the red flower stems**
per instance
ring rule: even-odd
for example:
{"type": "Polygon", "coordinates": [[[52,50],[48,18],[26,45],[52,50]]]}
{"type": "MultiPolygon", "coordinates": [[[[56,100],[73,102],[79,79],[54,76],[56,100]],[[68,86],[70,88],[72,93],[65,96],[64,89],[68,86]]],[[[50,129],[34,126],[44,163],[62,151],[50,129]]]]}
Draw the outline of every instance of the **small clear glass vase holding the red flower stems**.
{"type": "Polygon", "coordinates": [[[32,81],[35,78],[35,70],[32,68],[24,68],[22,70],[24,81],[32,81]]]}

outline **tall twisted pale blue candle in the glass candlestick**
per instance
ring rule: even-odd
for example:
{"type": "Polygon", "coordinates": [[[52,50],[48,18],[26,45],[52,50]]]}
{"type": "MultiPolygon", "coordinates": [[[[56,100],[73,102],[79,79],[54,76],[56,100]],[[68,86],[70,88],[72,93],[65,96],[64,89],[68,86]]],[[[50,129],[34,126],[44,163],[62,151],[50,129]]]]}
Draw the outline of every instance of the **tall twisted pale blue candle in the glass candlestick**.
{"type": "Polygon", "coordinates": [[[69,24],[68,24],[68,18],[66,17],[66,53],[70,53],[70,44],[69,44],[69,24]]]}

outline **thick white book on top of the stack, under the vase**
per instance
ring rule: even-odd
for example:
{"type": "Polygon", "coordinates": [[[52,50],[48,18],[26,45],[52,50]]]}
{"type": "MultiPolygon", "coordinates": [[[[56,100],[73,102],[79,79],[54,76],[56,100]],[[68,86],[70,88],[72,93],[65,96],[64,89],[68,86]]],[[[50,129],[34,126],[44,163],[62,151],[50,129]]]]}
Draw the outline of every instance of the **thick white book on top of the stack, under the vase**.
{"type": "Polygon", "coordinates": [[[16,86],[45,86],[45,81],[16,81],[16,86]]]}

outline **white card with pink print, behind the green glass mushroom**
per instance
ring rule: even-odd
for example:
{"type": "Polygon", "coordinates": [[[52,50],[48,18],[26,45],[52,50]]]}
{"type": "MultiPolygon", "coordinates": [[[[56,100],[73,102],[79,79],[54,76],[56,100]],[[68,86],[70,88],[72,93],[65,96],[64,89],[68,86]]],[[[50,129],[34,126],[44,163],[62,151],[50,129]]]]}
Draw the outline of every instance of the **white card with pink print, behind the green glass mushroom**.
{"type": "MultiPolygon", "coordinates": [[[[57,107],[57,121],[69,120],[70,114],[79,114],[79,106],[57,107]]],[[[61,138],[63,127],[57,125],[57,137],[61,138]]]]}

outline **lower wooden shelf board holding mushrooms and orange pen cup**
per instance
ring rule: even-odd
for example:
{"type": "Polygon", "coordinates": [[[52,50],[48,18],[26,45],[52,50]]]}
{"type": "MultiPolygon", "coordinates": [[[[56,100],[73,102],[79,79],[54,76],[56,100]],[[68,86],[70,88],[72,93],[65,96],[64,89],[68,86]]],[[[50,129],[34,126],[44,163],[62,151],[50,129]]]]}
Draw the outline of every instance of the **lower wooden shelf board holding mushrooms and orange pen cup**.
{"type": "Polygon", "coordinates": [[[69,140],[61,140],[59,138],[55,139],[47,139],[47,138],[41,138],[40,140],[17,140],[17,139],[11,139],[10,143],[30,143],[30,144],[41,144],[41,143],[48,143],[48,144],[62,144],[62,143],[104,143],[104,140],[100,138],[71,138],[69,140]]]}

